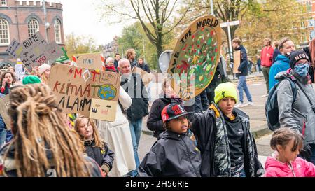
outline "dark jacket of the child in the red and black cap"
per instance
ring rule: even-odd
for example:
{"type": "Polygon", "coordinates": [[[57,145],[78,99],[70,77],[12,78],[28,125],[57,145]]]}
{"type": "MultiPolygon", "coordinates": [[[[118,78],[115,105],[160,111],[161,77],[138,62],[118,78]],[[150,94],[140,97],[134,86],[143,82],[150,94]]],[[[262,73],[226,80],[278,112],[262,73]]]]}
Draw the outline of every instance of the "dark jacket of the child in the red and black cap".
{"type": "Polygon", "coordinates": [[[165,131],[142,160],[139,176],[200,177],[200,151],[186,134],[165,131]]]}

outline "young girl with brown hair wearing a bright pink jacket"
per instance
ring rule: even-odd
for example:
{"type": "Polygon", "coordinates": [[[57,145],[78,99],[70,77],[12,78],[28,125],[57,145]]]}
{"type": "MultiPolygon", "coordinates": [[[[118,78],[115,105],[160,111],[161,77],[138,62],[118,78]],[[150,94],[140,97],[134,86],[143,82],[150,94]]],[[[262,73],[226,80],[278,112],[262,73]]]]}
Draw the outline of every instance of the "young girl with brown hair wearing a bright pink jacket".
{"type": "Polygon", "coordinates": [[[288,128],[277,129],[272,135],[270,146],[276,152],[267,157],[265,163],[266,177],[314,177],[315,167],[300,157],[303,147],[301,134],[288,128]]]}

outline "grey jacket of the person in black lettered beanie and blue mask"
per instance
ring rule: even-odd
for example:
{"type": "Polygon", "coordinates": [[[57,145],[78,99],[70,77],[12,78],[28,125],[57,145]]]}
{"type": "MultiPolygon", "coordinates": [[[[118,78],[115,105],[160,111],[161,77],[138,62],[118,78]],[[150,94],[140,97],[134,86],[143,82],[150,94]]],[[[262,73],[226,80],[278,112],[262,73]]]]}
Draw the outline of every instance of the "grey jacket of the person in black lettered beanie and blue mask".
{"type": "MultiPolygon", "coordinates": [[[[299,83],[304,92],[307,93],[311,102],[315,104],[315,92],[311,84],[304,85],[302,79],[293,76],[293,71],[288,70],[278,73],[276,80],[283,78],[291,78],[294,83],[299,83]]],[[[296,85],[296,98],[293,102],[293,92],[288,80],[281,80],[276,89],[278,106],[279,106],[279,122],[281,127],[288,127],[305,136],[304,141],[309,144],[315,143],[315,113],[309,104],[307,97],[304,95],[298,85],[296,85]]]]}

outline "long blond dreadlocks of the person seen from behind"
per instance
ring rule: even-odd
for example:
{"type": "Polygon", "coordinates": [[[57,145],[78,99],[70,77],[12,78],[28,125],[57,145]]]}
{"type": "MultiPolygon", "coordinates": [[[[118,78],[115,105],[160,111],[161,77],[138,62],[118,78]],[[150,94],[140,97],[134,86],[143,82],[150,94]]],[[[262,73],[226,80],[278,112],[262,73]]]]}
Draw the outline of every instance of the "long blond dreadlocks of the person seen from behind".
{"type": "Polygon", "coordinates": [[[66,126],[64,113],[47,85],[13,89],[8,114],[13,122],[10,146],[15,148],[18,176],[46,176],[51,167],[57,176],[90,176],[80,140],[66,126]]]}

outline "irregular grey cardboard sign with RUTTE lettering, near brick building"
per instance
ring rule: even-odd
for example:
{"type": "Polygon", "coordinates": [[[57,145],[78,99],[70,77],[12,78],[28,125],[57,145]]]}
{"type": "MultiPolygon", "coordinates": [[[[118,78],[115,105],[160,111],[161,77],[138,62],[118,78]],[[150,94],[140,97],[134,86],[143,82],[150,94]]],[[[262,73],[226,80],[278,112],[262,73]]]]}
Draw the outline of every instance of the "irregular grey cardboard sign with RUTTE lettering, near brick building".
{"type": "Polygon", "coordinates": [[[22,43],[13,41],[6,51],[13,57],[20,58],[28,71],[48,61],[54,62],[62,55],[59,45],[55,42],[46,43],[39,31],[22,43]]]}

